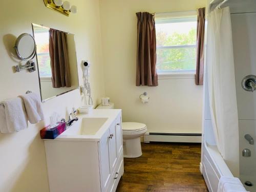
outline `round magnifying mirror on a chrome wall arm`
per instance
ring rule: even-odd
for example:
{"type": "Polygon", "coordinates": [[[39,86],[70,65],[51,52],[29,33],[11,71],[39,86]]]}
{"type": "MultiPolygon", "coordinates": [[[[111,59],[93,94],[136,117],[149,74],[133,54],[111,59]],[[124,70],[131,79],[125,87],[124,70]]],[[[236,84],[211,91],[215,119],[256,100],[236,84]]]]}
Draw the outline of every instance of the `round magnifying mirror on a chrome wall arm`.
{"type": "Polygon", "coordinates": [[[30,60],[35,56],[36,52],[35,39],[32,35],[23,33],[18,36],[14,48],[19,58],[30,60]]]}

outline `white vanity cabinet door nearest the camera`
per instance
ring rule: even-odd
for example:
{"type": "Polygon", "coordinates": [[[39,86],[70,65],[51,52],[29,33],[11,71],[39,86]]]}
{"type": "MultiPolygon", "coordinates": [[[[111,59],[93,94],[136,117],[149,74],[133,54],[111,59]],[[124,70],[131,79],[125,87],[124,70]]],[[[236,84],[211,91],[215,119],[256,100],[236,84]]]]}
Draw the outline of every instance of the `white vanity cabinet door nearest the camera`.
{"type": "Polygon", "coordinates": [[[104,133],[99,143],[99,159],[100,159],[100,178],[101,178],[101,191],[106,191],[112,175],[110,166],[110,132],[109,129],[104,133]]]}

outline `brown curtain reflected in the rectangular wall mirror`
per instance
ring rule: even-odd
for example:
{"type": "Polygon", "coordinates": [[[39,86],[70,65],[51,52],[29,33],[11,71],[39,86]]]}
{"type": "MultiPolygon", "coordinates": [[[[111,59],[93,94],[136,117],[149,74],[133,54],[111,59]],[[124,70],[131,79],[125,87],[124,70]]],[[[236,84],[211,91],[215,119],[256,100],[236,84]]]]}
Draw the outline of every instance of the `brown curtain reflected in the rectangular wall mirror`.
{"type": "Polygon", "coordinates": [[[67,33],[50,29],[49,51],[53,88],[71,87],[67,33]]]}

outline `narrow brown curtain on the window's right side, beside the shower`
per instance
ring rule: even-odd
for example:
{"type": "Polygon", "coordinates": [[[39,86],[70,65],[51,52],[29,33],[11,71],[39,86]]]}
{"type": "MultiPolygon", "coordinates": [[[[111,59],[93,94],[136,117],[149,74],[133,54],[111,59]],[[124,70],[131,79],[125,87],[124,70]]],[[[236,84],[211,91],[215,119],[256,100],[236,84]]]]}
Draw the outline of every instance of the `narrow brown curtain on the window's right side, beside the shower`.
{"type": "Polygon", "coordinates": [[[196,84],[201,85],[204,81],[204,24],[205,8],[197,10],[197,68],[196,84]]]}

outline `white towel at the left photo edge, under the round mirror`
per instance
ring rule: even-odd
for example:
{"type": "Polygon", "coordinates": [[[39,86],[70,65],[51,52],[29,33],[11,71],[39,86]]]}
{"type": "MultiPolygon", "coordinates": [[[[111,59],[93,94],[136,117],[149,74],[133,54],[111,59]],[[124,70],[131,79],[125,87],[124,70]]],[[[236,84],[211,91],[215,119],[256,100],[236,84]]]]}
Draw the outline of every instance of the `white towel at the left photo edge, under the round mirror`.
{"type": "Polygon", "coordinates": [[[21,98],[9,99],[0,105],[0,132],[12,133],[26,129],[28,119],[25,106],[21,98]]]}

